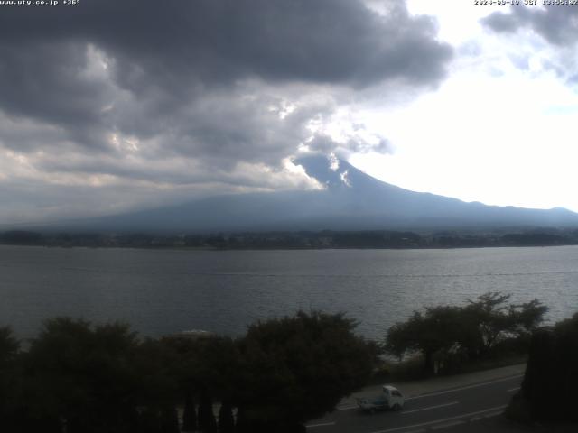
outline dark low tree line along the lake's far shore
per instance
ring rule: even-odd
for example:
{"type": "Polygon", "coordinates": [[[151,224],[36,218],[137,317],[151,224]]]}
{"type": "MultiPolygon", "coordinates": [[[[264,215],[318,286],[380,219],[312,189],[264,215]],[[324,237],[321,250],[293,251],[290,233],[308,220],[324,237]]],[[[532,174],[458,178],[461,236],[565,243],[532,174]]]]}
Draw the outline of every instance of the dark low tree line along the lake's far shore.
{"type": "Polygon", "coordinates": [[[10,230],[0,244],[62,247],[323,249],[323,248],[471,248],[578,244],[578,229],[504,228],[430,232],[284,231],[208,234],[108,233],[10,230]]]}

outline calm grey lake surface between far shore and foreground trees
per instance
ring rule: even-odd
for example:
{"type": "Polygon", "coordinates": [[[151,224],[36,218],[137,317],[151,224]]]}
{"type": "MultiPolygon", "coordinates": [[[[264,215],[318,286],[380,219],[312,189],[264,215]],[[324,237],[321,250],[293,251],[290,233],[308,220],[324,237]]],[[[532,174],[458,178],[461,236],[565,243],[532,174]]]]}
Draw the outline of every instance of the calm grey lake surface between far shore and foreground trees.
{"type": "Polygon", "coordinates": [[[34,336],[44,318],[128,321],[145,336],[241,335],[297,309],[345,311],[382,339],[414,309],[489,290],[578,311],[578,246],[455,250],[185,251],[0,245],[0,326],[34,336]]]}

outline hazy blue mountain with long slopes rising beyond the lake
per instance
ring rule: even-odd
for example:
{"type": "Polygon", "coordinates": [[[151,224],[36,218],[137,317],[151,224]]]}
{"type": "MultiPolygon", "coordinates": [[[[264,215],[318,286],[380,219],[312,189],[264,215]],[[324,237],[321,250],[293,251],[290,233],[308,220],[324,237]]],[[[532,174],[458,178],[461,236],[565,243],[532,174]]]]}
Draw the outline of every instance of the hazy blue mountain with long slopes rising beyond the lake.
{"type": "Polygon", "coordinates": [[[398,188],[346,161],[319,155],[295,161],[325,189],[203,198],[180,206],[94,218],[68,228],[207,232],[235,230],[364,230],[578,226],[566,209],[465,203],[398,188]]]}

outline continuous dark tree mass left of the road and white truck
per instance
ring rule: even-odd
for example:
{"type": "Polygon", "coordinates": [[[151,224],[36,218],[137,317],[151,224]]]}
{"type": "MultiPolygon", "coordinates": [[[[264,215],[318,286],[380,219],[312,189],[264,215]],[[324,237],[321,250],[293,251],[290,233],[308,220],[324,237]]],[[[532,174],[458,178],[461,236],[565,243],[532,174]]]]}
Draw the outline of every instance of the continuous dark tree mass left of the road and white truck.
{"type": "Polygon", "coordinates": [[[368,380],[375,346],[354,327],[299,312],[238,340],[140,340],[126,325],[54,318],[27,350],[1,328],[0,431],[176,433],[178,407],[182,431],[304,431],[368,380]]]}

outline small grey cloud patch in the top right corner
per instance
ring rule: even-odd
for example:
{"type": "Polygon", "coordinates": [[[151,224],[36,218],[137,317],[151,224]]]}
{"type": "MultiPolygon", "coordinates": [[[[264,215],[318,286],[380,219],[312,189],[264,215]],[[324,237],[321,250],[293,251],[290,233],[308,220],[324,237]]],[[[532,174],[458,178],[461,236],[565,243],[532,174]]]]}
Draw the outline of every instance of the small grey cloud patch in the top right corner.
{"type": "Polygon", "coordinates": [[[510,13],[495,12],[482,20],[495,32],[517,32],[529,28],[545,41],[558,46],[573,46],[578,30],[578,9],[571,5],[544,8],[511,7],[510,13]]]}

